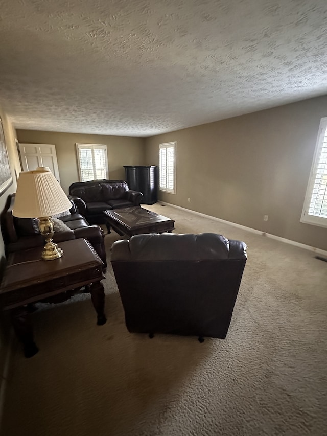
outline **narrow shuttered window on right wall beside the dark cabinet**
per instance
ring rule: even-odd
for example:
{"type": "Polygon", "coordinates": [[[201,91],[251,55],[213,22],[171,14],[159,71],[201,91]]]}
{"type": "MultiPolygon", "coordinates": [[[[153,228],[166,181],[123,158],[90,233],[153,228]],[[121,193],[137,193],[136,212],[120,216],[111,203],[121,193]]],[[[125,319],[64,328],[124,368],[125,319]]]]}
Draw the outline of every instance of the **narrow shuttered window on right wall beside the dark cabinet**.
{"type": "Polygon", "coordinates": [[[176,142],[159,145],[159,189],[176,194],[176,142]]]}

